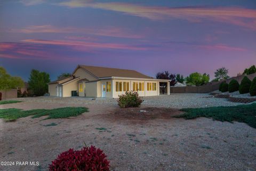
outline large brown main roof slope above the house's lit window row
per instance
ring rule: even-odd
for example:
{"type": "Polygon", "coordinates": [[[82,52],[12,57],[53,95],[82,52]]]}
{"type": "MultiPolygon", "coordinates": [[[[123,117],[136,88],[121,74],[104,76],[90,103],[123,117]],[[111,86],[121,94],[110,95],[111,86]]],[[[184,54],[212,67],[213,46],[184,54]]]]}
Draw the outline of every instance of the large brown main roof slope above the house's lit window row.
{"type": "Polygon", "coordinates": [[[94,66],[84,66],[78,65],[77,68],[82,68],[92,74],[95,77],[130,77],[130,78],[153,78],[141,74],[140,72],[128,69],[118,69],[118,68],[106,68],[106,67],[94,67],[94,66]]]}

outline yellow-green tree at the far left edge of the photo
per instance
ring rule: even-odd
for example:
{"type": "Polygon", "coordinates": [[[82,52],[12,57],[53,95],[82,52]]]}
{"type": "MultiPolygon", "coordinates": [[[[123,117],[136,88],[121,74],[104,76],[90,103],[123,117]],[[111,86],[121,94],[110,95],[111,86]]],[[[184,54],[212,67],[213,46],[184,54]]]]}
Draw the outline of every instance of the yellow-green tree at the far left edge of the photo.
{"type": "Polygon", "coordinates": [[[24,86],[20,77],[12,77],[3,67],[0,67],[0,89],[11,89],[24,86]]]}

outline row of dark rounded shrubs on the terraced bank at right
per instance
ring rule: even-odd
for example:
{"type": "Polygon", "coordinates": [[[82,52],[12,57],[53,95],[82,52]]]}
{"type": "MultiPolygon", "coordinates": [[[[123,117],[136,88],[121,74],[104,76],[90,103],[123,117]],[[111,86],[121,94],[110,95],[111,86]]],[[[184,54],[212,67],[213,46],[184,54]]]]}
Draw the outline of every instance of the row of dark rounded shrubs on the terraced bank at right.
{"type": "Polygon", "coordinates": [[[239,91],[240,94],[250,93],[251,96],[256,95],[256,77],[253,78],[252,82],[248,77],[244,77],[241,84],[237,80],[233,79],[230,83],[222,82],[219,86],[219,91],[221,92],[236,92],[239,91]]]}

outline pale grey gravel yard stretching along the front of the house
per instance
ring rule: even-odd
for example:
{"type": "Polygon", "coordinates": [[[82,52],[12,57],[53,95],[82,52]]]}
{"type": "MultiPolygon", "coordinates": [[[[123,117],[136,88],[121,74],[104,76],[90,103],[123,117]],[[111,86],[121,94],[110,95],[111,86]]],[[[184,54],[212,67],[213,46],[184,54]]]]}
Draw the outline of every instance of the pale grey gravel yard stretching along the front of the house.
{"type": "MultiPolygon", "coordinates": [[[[102,99],[89,97],[27,97],[18,98],[14,100],[21,100],[24,102],[35,103],[49,103],[49,104],[70,104],[70,105],[108,105],[117,107],[116,99],[102,99]]],[[[177,93],[171,95],[148,96],[143,97],[144,102],[142,107],[163,107],[163,108],[203,108],[214,106],[232,106],[241,103],[229,102],[227,99],[214,98],[209,94],[193,94],[193,93],[177,93]]],[[[18,105],[18,104],[17,104],[18,105]]]]}

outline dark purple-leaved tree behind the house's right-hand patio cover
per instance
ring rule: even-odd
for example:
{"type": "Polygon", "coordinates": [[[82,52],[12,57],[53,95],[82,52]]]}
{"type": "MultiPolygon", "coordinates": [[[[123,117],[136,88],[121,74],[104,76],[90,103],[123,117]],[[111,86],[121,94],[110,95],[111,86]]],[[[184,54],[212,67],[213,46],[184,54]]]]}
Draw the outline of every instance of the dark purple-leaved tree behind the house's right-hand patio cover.
{"type": "MultiPolygon", "coordinates": [[[[157,79],[170,79],[171,80],[170,81],[170,86],[174,86],[177,83],[175,77],[176,77],[175,74],[170,74],[168,71],[158,72],[156,74],[157,79]]],[[[164,94],[164,89],[167,87],[166,83],[160,82],[159,86],[160,86],[160,88],[161,88],[161,90],[164,94]]]]}

